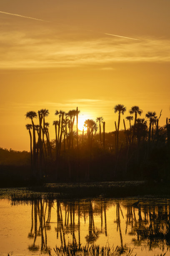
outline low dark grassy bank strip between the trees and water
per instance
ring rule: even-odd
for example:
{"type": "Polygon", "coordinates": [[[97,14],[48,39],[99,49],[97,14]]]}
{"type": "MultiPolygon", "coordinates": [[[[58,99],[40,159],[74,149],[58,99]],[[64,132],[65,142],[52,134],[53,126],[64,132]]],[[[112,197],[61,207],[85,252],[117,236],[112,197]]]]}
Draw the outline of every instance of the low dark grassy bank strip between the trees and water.
{"type": "Polygon", "coordinates": [[[170,195],[167,182],[120,181],[85,183],[47,183],[38,186],[0,188],[0,197],[12,195],[17,200],[41,198],[143,197],[170,195]]]}

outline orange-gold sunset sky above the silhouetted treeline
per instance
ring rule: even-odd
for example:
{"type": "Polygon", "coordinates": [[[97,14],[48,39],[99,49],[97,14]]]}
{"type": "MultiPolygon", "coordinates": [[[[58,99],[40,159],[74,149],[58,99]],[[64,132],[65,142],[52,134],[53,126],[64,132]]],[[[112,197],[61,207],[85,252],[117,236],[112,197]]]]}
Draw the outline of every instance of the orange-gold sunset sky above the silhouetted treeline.
{"type": "Polygon", "coordinates": [[[0,147],[29,150],[41,108],[50,139],[55,110],[77,106],[106,131],[116,104],[170,118],[170,0],[1,0],[0,32],[0,147]]]}

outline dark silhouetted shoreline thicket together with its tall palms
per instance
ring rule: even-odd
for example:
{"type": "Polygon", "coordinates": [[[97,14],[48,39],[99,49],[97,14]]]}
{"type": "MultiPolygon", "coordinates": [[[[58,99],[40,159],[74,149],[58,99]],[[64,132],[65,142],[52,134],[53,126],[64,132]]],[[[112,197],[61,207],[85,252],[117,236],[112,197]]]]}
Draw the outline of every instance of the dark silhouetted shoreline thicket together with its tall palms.
{"type": "Polygon", "coordinates": [[[148,111],[145,118],[140,118],[143,110],[138,106],[133,106],[125,118],[124,105],[115,105],[113,110],[118,114],[115,131],[106,133],[105,121],[100,116],[85,120],[87,131],[83,129],[81,134],[78,108],[67,113],[56,110],[55,139],[51,140],[50,124],[45,120],[49,111],[27,112],[25,116],[31,121],[26,125],[30,152],[0,148],[0,187],[55,182],[169,181],[170,119],[160,126],[162,110],[158,116],[148,111]],[[124,130],[120,130],[121,122],[124,130]]]}

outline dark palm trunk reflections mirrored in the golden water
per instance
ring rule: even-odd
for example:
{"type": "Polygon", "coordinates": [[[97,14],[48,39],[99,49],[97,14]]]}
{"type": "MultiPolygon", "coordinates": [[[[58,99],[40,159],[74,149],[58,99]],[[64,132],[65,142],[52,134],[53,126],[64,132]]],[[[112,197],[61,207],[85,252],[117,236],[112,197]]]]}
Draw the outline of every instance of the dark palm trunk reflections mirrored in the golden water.
{"type": "MultiPolygon", "coordinates": [[[[145,199],[137,207],[133,206],[133,202],[133,199],[102,198],[75,201],[32,200],[29,202],[31,208],[28,233],[32,243],[28,248],[31,251],[48,251],[55,244],[99,244],[100,236],[110,239],[111,244],[116,236],[122,247],[140,246],[148,251],[154,248],[161,251],[169,249],[170,200],[145,199]],[[57,240],[51,246],[51,241],[47,238],[54,232],[57,240]],[[37,242],[38,236],[41,237],[41,243],[37,242]]],[[[14,203],[16,202],[13,201],[14,203]]]]}

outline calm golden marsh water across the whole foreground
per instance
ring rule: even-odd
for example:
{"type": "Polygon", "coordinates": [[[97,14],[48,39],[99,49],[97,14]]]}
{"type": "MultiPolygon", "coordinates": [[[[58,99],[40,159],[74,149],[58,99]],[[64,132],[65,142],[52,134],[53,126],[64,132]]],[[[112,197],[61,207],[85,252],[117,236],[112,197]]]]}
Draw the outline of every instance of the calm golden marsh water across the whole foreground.
{"type": "Polygon", "coordinates": [[[61,245],[133,248],[133,255],[170,255],[170,199],[0,200],[0,255],[41,255],[61,245]]]}

